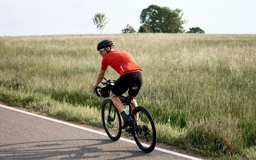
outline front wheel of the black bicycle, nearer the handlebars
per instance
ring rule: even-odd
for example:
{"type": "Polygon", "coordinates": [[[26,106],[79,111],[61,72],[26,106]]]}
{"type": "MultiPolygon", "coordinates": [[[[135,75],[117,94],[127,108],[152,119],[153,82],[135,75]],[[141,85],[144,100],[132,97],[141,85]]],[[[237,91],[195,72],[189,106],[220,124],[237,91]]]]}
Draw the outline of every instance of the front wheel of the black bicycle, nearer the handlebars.
{"type": "Polygon", "coordinates": [[[102,103],[101,116],[103,127],[109,138],[113,141],[119,140],[122,133],[122,121],[118,109],[110,99],[102,103]]]}

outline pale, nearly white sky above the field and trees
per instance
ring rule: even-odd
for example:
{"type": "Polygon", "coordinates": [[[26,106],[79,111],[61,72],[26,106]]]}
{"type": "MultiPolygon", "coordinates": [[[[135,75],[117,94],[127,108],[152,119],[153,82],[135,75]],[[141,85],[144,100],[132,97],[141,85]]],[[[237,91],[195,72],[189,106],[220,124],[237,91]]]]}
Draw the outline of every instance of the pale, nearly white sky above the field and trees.
{"type": "Polygon", "coordinates": [[[140,28],[140,13],[150,4],[181,9],[186,31],[256,34],[255,0],[0,0],[0,36],[99,34],[95,13],[108,19],[102,34],[140,28]]]}

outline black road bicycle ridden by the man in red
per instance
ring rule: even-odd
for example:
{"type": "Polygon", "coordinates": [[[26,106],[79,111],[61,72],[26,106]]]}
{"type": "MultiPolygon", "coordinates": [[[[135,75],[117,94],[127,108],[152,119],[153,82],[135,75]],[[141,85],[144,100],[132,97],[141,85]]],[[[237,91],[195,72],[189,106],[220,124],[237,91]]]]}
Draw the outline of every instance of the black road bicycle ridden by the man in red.
{"type": "MultiPolygon", "coordinates": [[[[105,77],[104,79],[105,81],[102,82],[104,86],[97,86],[95,93],[98,97],[108,98],[109,92],[116,81],[111,81],[105,77]]],[[[132,123],[125,132],[133,136],[136,144],[143,152],[152,152],[156,147],[156,127],[152,116],[146,108],[142,106],[135,107],[132,99],[127,97],[127,95],[120,95],[118,98],[124,105],[129,106],[129,115],[132,118],[132,123]],[[136,120],[136,114],[138,114],[138,120],[136,120]]],[[[108,137],[113,141],[119,140],[122,134],[122,120],[118,109],[111,99],[105,99],[102,102],[101,115],[102,124],[108,137]]]]}

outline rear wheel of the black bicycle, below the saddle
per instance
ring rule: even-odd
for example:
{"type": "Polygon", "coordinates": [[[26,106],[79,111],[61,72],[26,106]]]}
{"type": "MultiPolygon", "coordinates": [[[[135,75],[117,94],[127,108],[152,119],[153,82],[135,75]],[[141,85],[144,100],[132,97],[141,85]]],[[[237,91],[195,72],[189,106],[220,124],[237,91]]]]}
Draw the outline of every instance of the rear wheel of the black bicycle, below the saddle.
{"type": "Polygon", "coordinates": [[[139,120],[134,119],[134,132],[132,136],[138,147],[146,153],[152,152],[156,147],[156,127],[152,116],[147,109],[138,106],[133,111],[139,114],[139,120]]]}

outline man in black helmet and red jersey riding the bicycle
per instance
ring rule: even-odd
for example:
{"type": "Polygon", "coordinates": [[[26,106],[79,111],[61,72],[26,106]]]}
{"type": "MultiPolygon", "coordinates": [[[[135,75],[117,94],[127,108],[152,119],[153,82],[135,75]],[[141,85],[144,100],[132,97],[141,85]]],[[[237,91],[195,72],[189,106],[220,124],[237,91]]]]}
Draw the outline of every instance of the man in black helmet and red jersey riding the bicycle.
{"type": "MultiPolygon", "coordinates": [[[[97,45],[97,51],[99,51],[103,59],[100,73],[92,88],[95,90],[102,81],[108,65],[120,74],[109,96],[124,119],[122,128],[125,129],[132,122],[132,119],[125,113],[124,106],[121,100],[118,99],[118,95],[122,95],[128,90],[128,96],[131,97],[132,102],[137,107],[138,104],[135,97],[138,95],[143,83],[143,74],[141,67],[134,61],[132,56],[125,51],[114,51],[114,45],[112,40],[102,40],[97,45]]],[[[138,120],[137,116],[136,119],[138,120]]]]}

